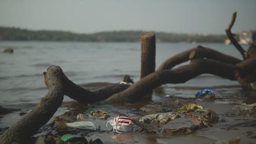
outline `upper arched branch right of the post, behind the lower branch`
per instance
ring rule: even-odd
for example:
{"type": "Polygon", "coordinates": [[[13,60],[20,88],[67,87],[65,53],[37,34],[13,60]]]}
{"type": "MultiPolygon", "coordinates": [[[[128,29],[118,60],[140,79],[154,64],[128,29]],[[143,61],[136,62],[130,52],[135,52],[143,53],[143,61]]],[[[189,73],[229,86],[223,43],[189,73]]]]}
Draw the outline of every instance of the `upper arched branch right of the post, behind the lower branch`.
{"type": "Polygon", "coordinates": [[[195,51],[197,55],[200,55],[201,57],[216,59],[217,61],[220,61],[223,63],[237,64],[241,62],[240,59],[237,59],[229,55],[225,55],[216,50],[212,50],[202,46],[197,46],[194,49],[190,49],[190,50],[178,53],[177,55],[167,59],[164,63],[160,65],[160,67],[158,68],[158,71],[164,70],[164,69],[172,69],[178,64],[189,61],[189,55],[193,51],[195,51]]]}

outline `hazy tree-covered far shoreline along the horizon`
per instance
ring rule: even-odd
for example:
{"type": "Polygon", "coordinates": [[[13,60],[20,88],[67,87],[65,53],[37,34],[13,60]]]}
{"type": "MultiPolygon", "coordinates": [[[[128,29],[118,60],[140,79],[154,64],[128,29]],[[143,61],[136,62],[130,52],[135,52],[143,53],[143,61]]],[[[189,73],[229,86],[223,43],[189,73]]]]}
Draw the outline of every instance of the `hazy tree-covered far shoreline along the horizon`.
{"type": "MultiPolygon", "coordinates": [[[[27,29],[0,27],[0,40],[40,41],[139,41],[142,31],[112,31],[93,34],[78,34],[65,31],[31,31],[27,29]]],[[[158,42],[223,43],[226,35],[200,35],[156,32],[158,42]]]]}

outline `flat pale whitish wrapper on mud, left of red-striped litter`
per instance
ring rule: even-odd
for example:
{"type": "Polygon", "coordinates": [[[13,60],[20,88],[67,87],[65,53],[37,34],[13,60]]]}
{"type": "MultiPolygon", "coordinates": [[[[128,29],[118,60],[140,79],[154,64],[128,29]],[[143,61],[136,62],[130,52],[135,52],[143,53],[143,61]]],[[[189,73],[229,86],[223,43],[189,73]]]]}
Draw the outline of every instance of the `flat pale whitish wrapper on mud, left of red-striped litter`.
{"type": "Polygon", "coordinates": [[[74,122],[74,123],[66,123],[68,127],[86,129],[86,130],[96,130],[96,126],[92,122],[74,122]]]}

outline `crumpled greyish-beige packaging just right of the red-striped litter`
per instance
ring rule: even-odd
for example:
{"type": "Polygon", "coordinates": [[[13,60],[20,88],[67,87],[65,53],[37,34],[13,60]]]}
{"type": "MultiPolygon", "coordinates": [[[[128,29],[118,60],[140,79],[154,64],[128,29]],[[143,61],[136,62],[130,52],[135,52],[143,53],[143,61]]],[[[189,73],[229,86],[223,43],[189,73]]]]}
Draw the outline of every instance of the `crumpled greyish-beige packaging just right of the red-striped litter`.
{"type": "Polygon", "coordinates": [[[142,118],[139,118],[139,122],[143,122],[143,123],[157,122],[160,124],[166,124],[169,121],[178,117],[179,115],[177,112],[156,113],[156,114],[147,115],[142,118]]]}

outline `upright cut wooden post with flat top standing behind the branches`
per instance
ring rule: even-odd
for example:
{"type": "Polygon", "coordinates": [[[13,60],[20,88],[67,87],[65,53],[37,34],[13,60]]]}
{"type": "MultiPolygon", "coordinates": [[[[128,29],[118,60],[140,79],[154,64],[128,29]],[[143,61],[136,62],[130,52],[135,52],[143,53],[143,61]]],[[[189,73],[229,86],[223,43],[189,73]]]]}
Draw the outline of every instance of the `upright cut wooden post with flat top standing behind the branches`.
{"type": "Polygon", "coordinates": [[[155,71],[155,33],[141,33],[141,79],[155,71]]]}

